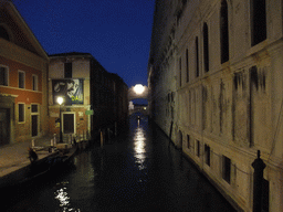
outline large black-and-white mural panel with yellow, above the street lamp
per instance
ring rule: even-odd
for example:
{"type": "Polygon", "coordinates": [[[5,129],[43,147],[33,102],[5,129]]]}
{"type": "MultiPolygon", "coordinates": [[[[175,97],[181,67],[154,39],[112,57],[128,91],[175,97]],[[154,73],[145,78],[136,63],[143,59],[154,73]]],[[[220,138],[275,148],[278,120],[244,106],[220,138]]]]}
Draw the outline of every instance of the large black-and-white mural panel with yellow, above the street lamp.
{"type": "Polygon", "coordinates": [[[84,104],[83,80],[53,80],[53,100],[64,97],[64,105],[84,104]]]}

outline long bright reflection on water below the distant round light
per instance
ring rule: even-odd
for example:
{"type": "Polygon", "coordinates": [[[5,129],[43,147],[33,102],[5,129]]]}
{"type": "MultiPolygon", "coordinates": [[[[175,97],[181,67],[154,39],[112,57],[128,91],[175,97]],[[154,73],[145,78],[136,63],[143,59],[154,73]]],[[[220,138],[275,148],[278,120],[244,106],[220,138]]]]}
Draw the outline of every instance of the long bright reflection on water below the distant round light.
{"type": "Polygon", "coordinates": [[[138,165],[138,169],[143,170],[146,168],[145,166],[145,159],[146,159],[146,138],[145,138],[145,131],[143,128],[138,127],[135,131],[134,136],[134,157],[136,159],[135,163],[138,165]]]}

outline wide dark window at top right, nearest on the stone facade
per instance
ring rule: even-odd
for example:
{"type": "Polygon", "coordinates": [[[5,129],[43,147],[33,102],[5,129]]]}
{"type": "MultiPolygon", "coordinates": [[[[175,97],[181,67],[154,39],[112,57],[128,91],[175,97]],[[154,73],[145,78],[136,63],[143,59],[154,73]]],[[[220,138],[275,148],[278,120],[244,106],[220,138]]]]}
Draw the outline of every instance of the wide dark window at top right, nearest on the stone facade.
{"type": "Polygon", "coordinates": [[[251,0],[251,44],[266,39],[266,7],[265,0],[251,0]]]}

